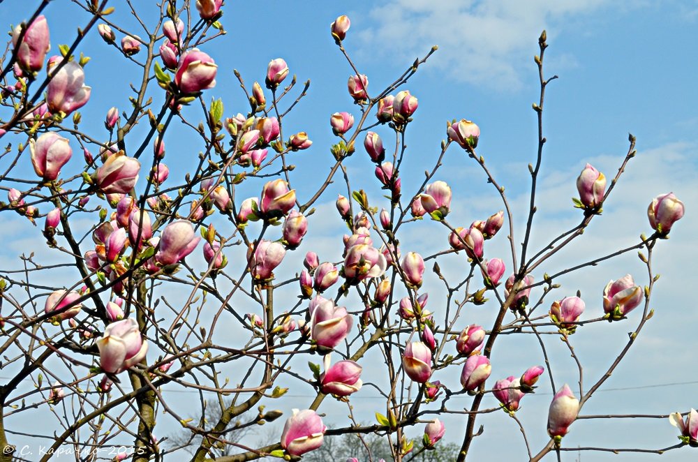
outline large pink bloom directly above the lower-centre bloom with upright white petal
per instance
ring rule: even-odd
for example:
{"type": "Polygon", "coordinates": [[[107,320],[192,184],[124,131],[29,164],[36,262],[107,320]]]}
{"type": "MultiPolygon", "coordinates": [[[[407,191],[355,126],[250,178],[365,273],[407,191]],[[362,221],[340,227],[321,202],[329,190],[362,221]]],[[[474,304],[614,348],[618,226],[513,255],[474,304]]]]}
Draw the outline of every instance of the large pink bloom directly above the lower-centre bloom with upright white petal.
{"type": "Polygon", "coordinates": [[[352,318],[343,306],[334,306],[332,300],[315,297],[311,301],[310,336],[323,348],[334,348],[346,338],[352,327],[352,318]],[[314,302],[314,303],[313,303],[314,302]]]}

